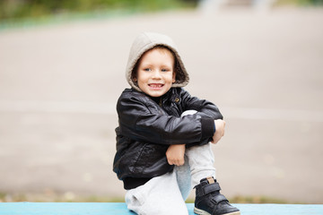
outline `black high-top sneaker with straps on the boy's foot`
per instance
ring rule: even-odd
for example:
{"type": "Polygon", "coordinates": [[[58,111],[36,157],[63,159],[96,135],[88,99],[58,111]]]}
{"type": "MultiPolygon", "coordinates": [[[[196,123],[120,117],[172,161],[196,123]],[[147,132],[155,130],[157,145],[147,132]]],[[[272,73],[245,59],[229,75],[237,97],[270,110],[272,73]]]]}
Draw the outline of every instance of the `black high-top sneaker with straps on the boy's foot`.
{"type": "Polygon", "coordinates": [[[233,207],[223,194],[214,177],[206,177],[196,185],[194,212],[199,215],[240,215],[239,209],[233,207]]]}

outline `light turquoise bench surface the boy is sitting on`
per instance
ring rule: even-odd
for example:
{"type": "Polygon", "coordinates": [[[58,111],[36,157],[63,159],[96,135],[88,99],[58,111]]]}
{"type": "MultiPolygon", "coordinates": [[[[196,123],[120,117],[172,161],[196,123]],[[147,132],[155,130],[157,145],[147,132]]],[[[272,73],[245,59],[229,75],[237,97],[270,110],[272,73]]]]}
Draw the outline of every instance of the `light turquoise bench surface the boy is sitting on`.
{"type": "MultiPolygon", "coordinates": [[[[323,204],[233,204],[242,215],[322,215],[323,204]]],[[[188,203],[189,215],[194,204],[188,203]]],[[[2,202],[0,215],[134,215],[125,203],[111,202],[2,202]]]]}

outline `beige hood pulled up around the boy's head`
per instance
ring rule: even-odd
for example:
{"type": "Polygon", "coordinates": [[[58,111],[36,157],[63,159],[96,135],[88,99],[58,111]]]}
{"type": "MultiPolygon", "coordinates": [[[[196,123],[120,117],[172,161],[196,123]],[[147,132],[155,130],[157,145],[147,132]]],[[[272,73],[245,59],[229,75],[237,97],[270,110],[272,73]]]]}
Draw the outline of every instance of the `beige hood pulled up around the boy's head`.
{"type": "Polygon", "coordinates": [[[135,82],[131,79],[131,73],[134,70],[135,64],[144,53],[156,46],[169,47],[177,58],[179,65],[176,68],[176,81],[172,87],[184,87],[188,84],[189,77],[185,66],[179,56],[178,48],[170,37],[153,32],[144,32],[135,38],[135,41],[130,49],[130,54],[127,62],[126,78],[130,86],[135,90],[141,91],[135,82]]]}

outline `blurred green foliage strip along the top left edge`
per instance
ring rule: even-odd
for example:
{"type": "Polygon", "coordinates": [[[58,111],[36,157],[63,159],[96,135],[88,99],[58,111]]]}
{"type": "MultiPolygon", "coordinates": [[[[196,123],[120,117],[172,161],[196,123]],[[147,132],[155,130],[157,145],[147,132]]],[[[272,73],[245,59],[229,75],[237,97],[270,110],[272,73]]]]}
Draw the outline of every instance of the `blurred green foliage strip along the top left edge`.
{"type": "Polygon", "coordinates": [[[116,9],[149,12],[192,4],[192,0],[0,0],[0,21],[116,9]]]}

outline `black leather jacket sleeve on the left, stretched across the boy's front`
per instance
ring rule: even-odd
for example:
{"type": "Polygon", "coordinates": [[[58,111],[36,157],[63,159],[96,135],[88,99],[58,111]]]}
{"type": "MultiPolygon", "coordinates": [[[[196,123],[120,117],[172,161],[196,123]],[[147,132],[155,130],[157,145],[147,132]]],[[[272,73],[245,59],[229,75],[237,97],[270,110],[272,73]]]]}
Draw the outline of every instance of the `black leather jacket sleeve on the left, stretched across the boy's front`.
{"type": "Polygon", "coordinates": [[[204,138],[201,116],[169,116],[145,99],[131,94],[118,99],[119,127],[123,135],[135,141],[157,144],[188,144],[204,138]]]}

